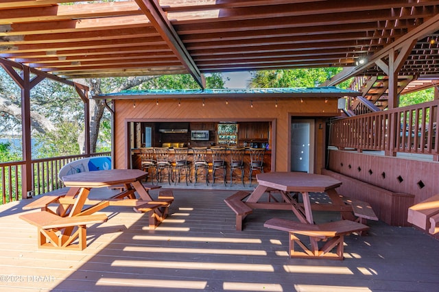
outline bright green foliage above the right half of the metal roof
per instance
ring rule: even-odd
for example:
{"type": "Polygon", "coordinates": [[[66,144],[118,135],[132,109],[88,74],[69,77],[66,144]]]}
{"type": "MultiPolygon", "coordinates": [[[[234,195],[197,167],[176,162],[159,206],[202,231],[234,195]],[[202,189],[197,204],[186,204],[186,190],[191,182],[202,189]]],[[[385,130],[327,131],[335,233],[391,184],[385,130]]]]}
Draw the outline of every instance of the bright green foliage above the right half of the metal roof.
{"type": "MultiPolygon", "coordinates": [[[[339,73],[342,68],[267,70],[252,73],[250,88],[316,87],[339,73]]],[[[346,88],[350,82],[340,84],[346,88]]]]}

